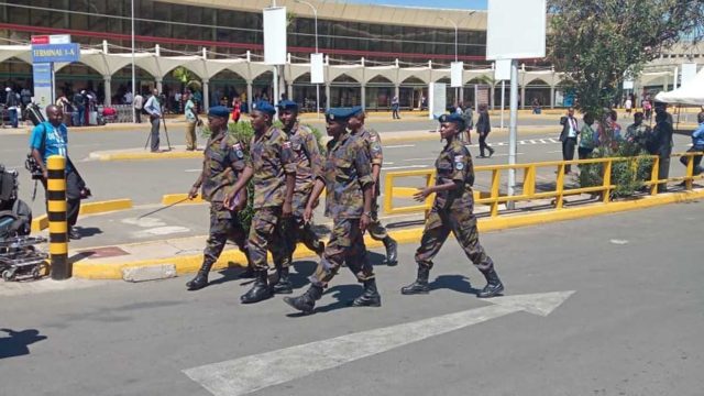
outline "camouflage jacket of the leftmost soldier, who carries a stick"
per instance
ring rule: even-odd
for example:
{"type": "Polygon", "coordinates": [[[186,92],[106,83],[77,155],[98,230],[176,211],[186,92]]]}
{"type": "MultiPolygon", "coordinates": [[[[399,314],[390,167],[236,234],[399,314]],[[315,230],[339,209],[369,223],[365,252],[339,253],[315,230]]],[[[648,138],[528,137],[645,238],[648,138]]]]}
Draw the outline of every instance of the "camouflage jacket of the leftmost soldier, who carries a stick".
{"type": "Polygon", "coordinates": [[[242,170],[250,165],[245,147],[224,132],[208,141],[204,153],[202,197],[209,202],[222,202],[232,190],[242,170]]]}

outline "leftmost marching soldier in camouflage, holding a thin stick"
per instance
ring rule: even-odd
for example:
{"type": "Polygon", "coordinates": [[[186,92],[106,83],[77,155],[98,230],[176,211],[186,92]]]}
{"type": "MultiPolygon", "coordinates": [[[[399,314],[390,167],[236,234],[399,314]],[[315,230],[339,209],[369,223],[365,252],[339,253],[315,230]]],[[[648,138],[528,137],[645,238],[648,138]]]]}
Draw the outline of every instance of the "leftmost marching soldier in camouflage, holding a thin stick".
{"type": "Polygon", "coordinates": [[[220,257],[228,238],[246,254],[246,235],[237,213],[246,204],[246,190],[239,197],[240,201],[233,209],[223,205],[227,194],[249,165],[244,145],[228,133],[228,109],[221,106],[208,111],[212,134],[204,153],[202,172],[188,193],[188,198],[193,199],[198,196],[198,189],[202,186],[202,197],[210,202],[210,235],[204,251],[202,266],[196,277],[186,284],[189,290],[198,290],[208,285],[208,273],[220,257]]]}

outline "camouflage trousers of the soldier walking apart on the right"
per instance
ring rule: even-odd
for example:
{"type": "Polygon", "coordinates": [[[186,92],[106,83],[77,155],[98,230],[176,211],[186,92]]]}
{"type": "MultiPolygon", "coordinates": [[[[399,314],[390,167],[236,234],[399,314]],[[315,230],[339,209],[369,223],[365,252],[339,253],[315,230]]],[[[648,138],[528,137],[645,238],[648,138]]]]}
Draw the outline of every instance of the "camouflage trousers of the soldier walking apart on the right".
{"type": "Polygon", "coordinates": [[[486,255],[480,244],[480,234],[476,230],[476,217],[468,208],[461,209],[433,209],[426,220],[420,246],[416,251],[418,265],[432,268],[432,258],[440,252],[440,248],[450,235],[454,234],[464,254],[474,263],[477,270],[484,272],[494,266],[492,258],[486,255]]]}

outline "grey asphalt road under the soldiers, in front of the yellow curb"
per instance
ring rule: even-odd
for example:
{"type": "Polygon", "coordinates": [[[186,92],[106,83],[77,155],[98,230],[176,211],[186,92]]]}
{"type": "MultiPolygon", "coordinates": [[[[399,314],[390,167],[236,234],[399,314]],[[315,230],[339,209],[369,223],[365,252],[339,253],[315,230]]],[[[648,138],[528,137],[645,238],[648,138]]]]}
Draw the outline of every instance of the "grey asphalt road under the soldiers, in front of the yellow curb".
{"type": "MultiPolygon", "coordinates": [[[[454,241],[430,295],[398,294],[415,275],[404,245],[399,266],[376,266],[382,308],[345,307],[360,286],[343,271],[310,317],[278,297],[240,305],[233,272],[198,293],[185,278],[0,285],[0,394],[233,396],[272,381],[253,395],[698,395],[703,205],[483,234],[512,298],[498,306],[472,295],[483,280],[454,241]],[[551,292],[566,300],[544,317],[519,297],[551,292]]],[[[296,265],[299,292],[312,266],[296,265]]]]}

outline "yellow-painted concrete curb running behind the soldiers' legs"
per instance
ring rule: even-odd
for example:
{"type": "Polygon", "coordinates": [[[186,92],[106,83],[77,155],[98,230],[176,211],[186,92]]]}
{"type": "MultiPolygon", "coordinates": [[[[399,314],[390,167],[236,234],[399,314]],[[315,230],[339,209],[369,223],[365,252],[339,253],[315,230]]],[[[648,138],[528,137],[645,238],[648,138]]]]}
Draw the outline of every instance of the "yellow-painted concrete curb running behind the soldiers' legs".
{"type": "MultiPolygon", "coordinates": [[[[645,197],[641,199],[628,200],[612,204],[595,204],[584,208],[552,210],[542,213],[516,215],[497,218],[482,218],[477,222],[481,232],[497,231],[513,229],[518,227],[543,224],[548,222],[581,219],[586,217],[617,213],[628,210],[646,209],[656,206],[689,202],[704,198],[704,189],[684,193],[663,194],[654,197],[645,197]]],[[[418,243],[422,235],[422,228],[399,230],[391,232],[391,235],[398,243],[418,243]]],[[[369,235],[364,239],[367,248],[380,248],[382,242],[372,240],[369,235]]],[[[85,251],[86,249],[81,249],[85,251]]],[[[300,245],[294,255],[295,258],[312,257],[315,253],[300,245]]],[[[270,257],[271,260],[271,257],[270,257]]],[[[125,268],[153,267],[145,271],[144,278],[160,278],[160,271],[164,272],[164,277],[172,277],[175,271],[177,275],[194,273],[198,271],[202,261],[202,254],[184,255],[158,260],[133,261],[113,264],[90,264],[88,262],[74,263],[73,274],[76,277],[87,279],[122,279],[123,274],[130,274],[134,277],[134,271],[124,272],[125,268]],[[158,270],[158,271],[157,271],[158,270]]],[[[240,251],[230,249],[222,252],[220,260],[213,265],[215,270],[246,265],[244,254],[240,251]]],[[[139,274],[138,274],[139,276],[139,274]]]]}

